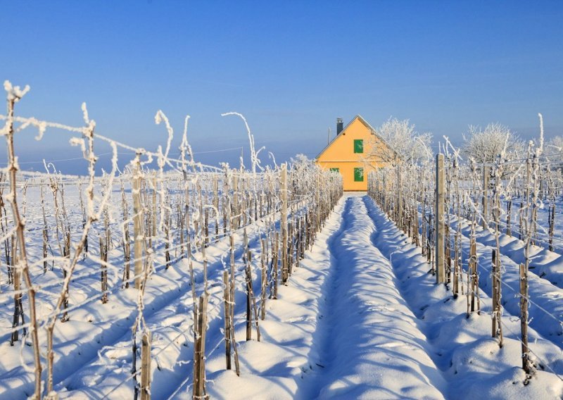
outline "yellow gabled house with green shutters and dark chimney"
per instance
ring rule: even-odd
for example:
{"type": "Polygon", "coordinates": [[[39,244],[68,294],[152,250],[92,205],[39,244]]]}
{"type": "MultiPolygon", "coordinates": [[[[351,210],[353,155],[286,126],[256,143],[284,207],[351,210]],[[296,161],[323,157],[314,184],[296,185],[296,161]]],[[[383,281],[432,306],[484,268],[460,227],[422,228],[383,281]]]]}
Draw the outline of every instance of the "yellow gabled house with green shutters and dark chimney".
{"type": "Polygon", "coordinates": [[[342,118],[336,120],[336,137],[315,161],[321,168],[340,173],[345,191],[363,192],[367,190],[367,173],[390,161],[388,154],[394,158],[396,153],[361,115],[356,115],[346,127],[342,118]]]}

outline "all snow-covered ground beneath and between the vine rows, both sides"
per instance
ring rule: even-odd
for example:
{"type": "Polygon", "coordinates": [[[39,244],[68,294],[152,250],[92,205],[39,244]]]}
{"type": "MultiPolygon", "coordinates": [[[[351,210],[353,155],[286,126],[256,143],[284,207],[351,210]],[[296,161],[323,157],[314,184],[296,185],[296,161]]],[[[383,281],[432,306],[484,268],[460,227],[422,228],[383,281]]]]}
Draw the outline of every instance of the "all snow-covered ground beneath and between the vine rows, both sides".
{"type": "MultiPolygon", "coordinates": [[[[248,228],[253,251],[260,248],[260,231],[260,222],[248,228]]],[[[519,368],[518,299],[510,289],[503,296],[502,349],[491,338],[486,235],[483,232],[478,246],[483,265],[481,314],[467,318],[465,296],[453,299],[444,285],[435,285],[420,249],[372,199],[343,196],[312,250],[293,270],[288,284],[279,287],[278,299],[267,300],[260,342],[245,340],[243,277],[241,273],[237,277],[240,377],[225,370],[222,341],[221,273],[228,262],[228,242],[212,244],[208,394],[217,399],[562,398],[562,317],[557,301],[561,289],[543,278],[531,278],[530,296],[538,304],[531,305],[529,330],[536,373],[525,384],[519,368]],[[543,316],[546,313],[550,317],[543,316]]],[[[236,258],[237,270],[242,270],[241,249],[236,258]]],[[[505,282],[514,287],[517,280],[511,268],[516,263],[505,258],[505,282]]],[[[260,287],[258,268],[259,258],[253,258],[255,287],[260,287]]],[[[196,270],[201,268],[196,265],[196,270]]],[[[80,287],[71,294],[88,296],[80,287]]],[[[132,397],[135,296],[134,289],[116,292],[108,304],[85,304],[68,323],[57,325],[55,388],[61,398],[132,397]]],[[[151,277],[145,304],[146,323],[153,332],[151,394],[154,399],[191,398],[194,337],[185,260],[151,277]]],[[[2,315],[9,315],[11,303],[1,307],[2,315]]],[[[25,372],[20,355],[31,365],[30,348],[9,346],[1,333],[0,399],[23,399],[32,393],[32,374],[25,372]]]]}

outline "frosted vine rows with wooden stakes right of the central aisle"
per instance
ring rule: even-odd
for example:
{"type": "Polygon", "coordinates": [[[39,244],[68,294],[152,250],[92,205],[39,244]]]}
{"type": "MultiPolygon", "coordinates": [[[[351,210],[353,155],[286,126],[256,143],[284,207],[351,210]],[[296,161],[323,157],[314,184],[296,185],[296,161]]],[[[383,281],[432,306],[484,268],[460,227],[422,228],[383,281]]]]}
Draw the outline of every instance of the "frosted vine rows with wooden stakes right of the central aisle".
{"type": "Polygon", "coordinates": [[[483,270],[488,269],[482,263],[479,265],[477,233],[491,232],[491,284],[487,282],[486,286],[492,292],[492,337],[502,347],[502,315],[506,305],[502,297],[507,290],[513,292],[519,298],[522,368],[531,375],[535,365],[527,338],[529,307],[548,315],[559,335],[563,333],[562,315],[553,315],[529,293],[532,246],[543,246],[559,254],[563,250],[563,237],[555,227],[555,206],[563,195],[562,162],[543,154],[541,115],[540,139],[529,142],[526,158],[509,160],[502,152],[494,163],[465,161],[460,151],[445,139],[446,146],[435,163],[403,162],[370,173],[368,193],[388,218],[421,246],[436,283],[444,284],[454,298],[459,294],[466,296],[467,318],[471,313],[481,313],[480,279],[483,280],[483,270]],[[538,222],[538,210],[545,204],[547,218],[538,222]],[[513,215],[514,206],[518,207],[517,218],[513,215]],[[517,226],[514,220],[518,221],[517,226]],[[462,237],[467,239],[465,243],[462,237]],[[501,262],[501,242],[505,237],[517,237],[524,249],[523,262],[516,271],[517,289],[503,281],[506,271],[501,262]]]}

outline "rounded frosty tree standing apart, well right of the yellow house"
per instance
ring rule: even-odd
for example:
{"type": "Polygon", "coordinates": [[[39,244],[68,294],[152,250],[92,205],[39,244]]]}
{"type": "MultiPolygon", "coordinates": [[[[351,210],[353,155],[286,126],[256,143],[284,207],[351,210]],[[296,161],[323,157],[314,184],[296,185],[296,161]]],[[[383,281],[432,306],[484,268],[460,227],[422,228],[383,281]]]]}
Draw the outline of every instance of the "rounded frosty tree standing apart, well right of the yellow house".
{"type": "Polygon", "coordinates": [[[500,123],[489,124],[485,130],[471,125],[467,135],[463,135],[463,140],[463,154],[477,163],[492,163],[501,153],[508,159],[524,154],[524,142],[500,123]]]}

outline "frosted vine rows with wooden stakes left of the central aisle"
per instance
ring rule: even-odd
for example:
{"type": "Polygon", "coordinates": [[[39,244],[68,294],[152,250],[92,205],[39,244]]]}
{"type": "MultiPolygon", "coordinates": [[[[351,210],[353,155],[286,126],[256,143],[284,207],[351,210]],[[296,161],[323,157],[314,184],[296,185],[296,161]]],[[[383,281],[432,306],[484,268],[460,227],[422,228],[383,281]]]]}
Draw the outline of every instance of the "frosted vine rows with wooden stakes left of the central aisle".
{"type": "MultiPolygon", "coordinates": [[[[163,349],[156,351],[151,345],[158,327],[145,318],[146,288],[176,263],[187,265],[184,276],[192,297],[192,313],[186,319],[191,318],[189,332],[194,338],[194,398],[207,396],[205,332],[208,307],[212,306],[208,303],[210,280],[215,275],[223,285],[225,368],[232,368],[234,357],[239,374],[234,337],[236,292],[243,292],[247,299],[246,339],[252,339],[254,328],[260,340],[259,320],[267,318],[265,304],[277,298],[279,285],[289,285],[289,276],[339,201],[340,175],[303,163],[263,168],[246,120],[253,172],[194,161],[187,140],[189,117],[184,120],[180,158],[172,158],[174,132],[162,111],[156,114],[156,123],[165,125],[166,144],[164,149],[158,146],[157,151],[148,151],[95,132],[96,123],[85,104],[83,127],[17,116],[15,104],[29,87],[20,89],[6,81],[4,88],[8,113],[0,115],[6,122],[0,135],[6,137],[8,167],[0,174],[0,259],[7,279],[0,275],[0,296],[13,299],[13,314],[11,328],[4,330],[2,338],[9,337],[11,344],[21,342],[20,351],[27,351],[25,339],[32,338],[34,377],[24,379],[23,385],[32,385],[36,399],[55,398],[60,382],[56,347],[61,325],[72,323],[75,313],[85,306],[122,301],[118,294],[125,291],[132,293],[136,311],[130,325],[131,373],[120,385],[132,385],[135,399],[150,398],[151,358],[163,349]],[[52,165],[45,165],[44,174],[18,173],[13,142],[30,127],[37,129],[37,139],[51,129],[78,135],[70,144],[80,147],[88,174],[62,175],[52,165]],[[103,175],[96,175],[97,142],[106,142],[112,149],[112,169],[103,175]],[[118,149],[134,155],[122,172],[118,149]],[[260,254],[253,254],[248,246],[249,229],[258,237],[260,254]],[[40,235],[40,251],[34,249],[35,232],[40,235]],[[227,244],[229,261],[217,271],[210,269],[208,251],[218,244],[227,244]],[[243,270],[236,268],[239,258],[243,270]],[[253,287],[257,260],[260,285],[253,287]],[[75,296],[79,287],[87,293],[84,299],[75,296]],[[29,315],[27,320],[25,315],[29,315]],[[46,335],[40,334],[43,330],[46,335]]],[[[217,346],[220,344],[212,347],[217,346]]],[[[20,369],[23,375],[30,370],[23,358],[20,369]]]]}

